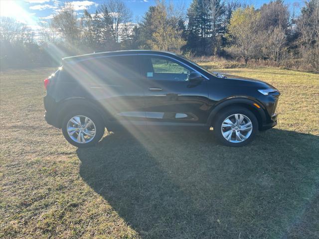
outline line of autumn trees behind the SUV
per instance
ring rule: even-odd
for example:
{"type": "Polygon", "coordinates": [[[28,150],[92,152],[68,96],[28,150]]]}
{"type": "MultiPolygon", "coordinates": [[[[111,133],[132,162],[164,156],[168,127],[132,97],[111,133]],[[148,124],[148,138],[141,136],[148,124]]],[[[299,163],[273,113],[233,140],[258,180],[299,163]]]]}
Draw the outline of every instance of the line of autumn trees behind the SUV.
{"type": "Polygon", "coordinates": [[[57,12],[39,23],[37,34],[1,17],[1,68],[49,66],[64,56],[100,51],[154,49],[319,72],[319,0],[307,0],[298,16],[284,0],[259,9],[239,0],[193,0],[188,9],[158,0],[137,23],[122,0],[106,0],[80,18],[70,2],[57,12]]]}

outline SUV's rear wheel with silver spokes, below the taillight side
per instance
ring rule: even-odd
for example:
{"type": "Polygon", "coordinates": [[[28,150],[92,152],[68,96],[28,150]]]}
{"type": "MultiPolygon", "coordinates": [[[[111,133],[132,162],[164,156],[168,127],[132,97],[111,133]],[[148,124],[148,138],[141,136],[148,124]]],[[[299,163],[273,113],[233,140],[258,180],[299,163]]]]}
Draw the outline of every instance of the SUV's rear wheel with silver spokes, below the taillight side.
{"type": "Polygon", "coordinates": [[[89,109],[72,111],[62,120],[62,132],[65,139],[78,148],[94,146],[102,138],[104,130],[105,125],[103,119],[99,114],[89,109]],[[81,126],[77,128],[79,124],[76,124],[74,121],[79,122],[79,119],[81,126]],[[85,126],[84,123],[86,120],[87,127],[82,127],[83,125],[85,126]],[[67,128],[69,128],[69,132],[67,128]],[[73,130],[73,128],[77,129],[73,130]],[[83,134],[84,140],[81,135],[79,136],[79,133],[83,134]],[[92,136],[93,134],[94,136],[92,136]]]}

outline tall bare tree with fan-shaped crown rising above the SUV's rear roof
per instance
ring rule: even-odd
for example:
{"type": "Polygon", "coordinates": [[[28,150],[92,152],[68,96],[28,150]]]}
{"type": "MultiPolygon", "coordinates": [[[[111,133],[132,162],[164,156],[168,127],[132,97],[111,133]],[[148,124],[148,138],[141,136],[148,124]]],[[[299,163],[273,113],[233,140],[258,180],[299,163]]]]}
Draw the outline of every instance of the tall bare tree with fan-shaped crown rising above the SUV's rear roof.
{"type": "Polygon", "coordinates": [[[122,0],[107,0],[100,6],[99,11],[104,19],[108,19],[106,27],[109,28],[114,41],[118,43],[125,25],[131,20],[131,10],[122,0]]]}

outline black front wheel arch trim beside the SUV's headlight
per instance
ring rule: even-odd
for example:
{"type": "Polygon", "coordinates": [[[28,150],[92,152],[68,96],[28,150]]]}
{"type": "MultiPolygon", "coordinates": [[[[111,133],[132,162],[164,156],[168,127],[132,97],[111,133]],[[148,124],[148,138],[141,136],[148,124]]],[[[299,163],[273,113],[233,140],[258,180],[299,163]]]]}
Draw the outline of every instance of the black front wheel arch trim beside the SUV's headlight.
{"type": "Polygon", "coordinates": [[[250,110],[256,116],[258,120],[258,128],[261,129],[263,122],[266,121],[264,106],[259,102],[253,101],[251,99],[245,99],[245,98],[226,99],[225,101],[216,105],[208,117],[207,124],[211,126],[212,122],[216,119],[216,117],[218,116],[220,112],[222,112],[226,108],[235,107],[235,106],[244,107],[250,110]],[[257,108],[254,104],[257,104],[258,106],[260,106],[260,108],[257,108]]]}

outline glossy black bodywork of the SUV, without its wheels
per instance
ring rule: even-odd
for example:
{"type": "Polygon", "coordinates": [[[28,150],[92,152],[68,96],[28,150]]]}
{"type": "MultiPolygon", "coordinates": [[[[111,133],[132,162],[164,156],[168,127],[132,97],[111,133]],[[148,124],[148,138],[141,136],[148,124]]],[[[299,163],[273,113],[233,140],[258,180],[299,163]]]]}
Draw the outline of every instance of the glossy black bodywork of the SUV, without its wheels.
{"type": "Polygon", "coordinates": [[[273,86],[209,73],[175,54],[117,51],[68,57],[62,64],[63,69],[50,79],[44,97],[45,119],[56,127],[61,127],[64,113],[76,107],[95,109],[109,130],[123,126],[207,129],[218,112],[230,105],[250,109],[261,130],[277,123],[275,110],[280,93],[264,96],[258,92],[273,86]],[[186,73],[157,74],[149,69],[146,59],[150,57],[167,59],[195,73],[190,73],[187,81],[186,73]],[[171,77],[176,80],[168,80],[171,77]]]}

